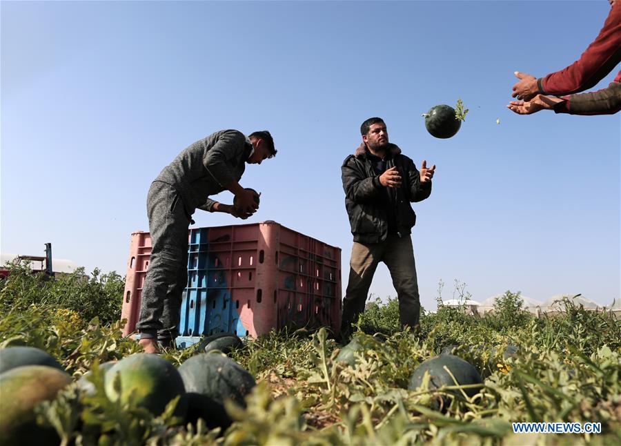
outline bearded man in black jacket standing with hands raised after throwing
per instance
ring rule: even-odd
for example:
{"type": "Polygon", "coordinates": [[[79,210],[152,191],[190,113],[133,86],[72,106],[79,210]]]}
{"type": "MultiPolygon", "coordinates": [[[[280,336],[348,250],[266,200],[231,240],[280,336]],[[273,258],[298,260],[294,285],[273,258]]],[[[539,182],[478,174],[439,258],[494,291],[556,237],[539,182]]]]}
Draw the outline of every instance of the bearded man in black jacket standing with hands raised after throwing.
{"type": "Polygon", "coordinates": [[[431,194],[435,165],[420,172],[412,159],[388,142],[388,131],[379,117],[360,126],[362,144],[341,167],[345,207],[353,234],[349,282],[343,300],[340,338],[348,340],[351,324],[364,304],[377,264],[388,266],[399,299],[402,327],[419,328],[420,298],[414,251],[410,237],[416,222],[411,202],[431,194]]]}

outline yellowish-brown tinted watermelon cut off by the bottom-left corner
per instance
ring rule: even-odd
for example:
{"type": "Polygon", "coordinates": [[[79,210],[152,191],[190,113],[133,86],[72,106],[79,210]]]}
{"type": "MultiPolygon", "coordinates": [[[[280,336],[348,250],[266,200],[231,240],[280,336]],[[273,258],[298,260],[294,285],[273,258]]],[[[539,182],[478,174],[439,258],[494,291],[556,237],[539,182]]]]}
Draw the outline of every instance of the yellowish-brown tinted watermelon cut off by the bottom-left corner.
{"type": "Polygon", "coordinates": [[[34,407],[56,398],[71,376],[55,367],[26,365],[0,375],[0,445],[58,445],[55,429],[37,425],[34,407]]]}

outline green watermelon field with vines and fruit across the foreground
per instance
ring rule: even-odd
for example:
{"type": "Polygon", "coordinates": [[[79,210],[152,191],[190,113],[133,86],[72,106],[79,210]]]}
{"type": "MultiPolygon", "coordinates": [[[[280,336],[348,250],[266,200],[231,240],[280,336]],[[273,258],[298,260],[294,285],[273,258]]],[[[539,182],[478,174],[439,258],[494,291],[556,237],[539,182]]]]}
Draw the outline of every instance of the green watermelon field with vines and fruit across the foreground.
{"type": "Polygon", "coordinates": [[[507,291],[493,316],[425,312],[420,335],[399,330],[396,300],[371,300],[348,346],[306,327],[244,340],[228,356],[199,345],[148,356],[121,337],[116,273],[10,270],[0,280],[2,445],[621,444],[620,321],[569,300],[535,318],[507,291]],[[11,349],[30,353],[15,360],[11,349]],[[413,383],[438,355],[461,362],[427,362],[413,383]],[[35,356],[44,364],[16,367],[35,356]],[[457,384],[466,366],[482,384],[457,384]],[[442,370],[454,381],[430,378],[442,370]],[[210,397],[192,399],[201,392],[210,397]],[[601,432],[513,433],[511,423],[531,421],[601,432]]]}

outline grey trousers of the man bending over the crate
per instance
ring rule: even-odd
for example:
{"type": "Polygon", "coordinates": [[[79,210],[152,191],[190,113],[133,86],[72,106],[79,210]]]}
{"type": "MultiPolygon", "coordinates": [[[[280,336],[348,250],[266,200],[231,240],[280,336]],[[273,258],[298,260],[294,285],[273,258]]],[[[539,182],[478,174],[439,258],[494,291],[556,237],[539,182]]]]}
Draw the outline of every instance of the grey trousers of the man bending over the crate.
{"type": "Polygon", "coordinates": [[[188,284],[187,215],[179,193],[169,184],[153,182],[147,195],[151,256],[142,287],[141,338],[167,342],[179,334],[179,313],[188,284]]]}

